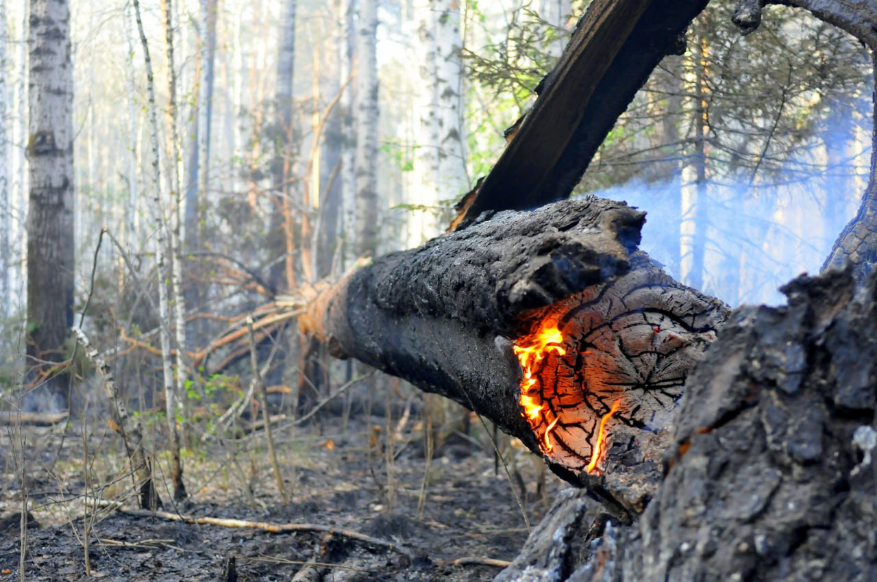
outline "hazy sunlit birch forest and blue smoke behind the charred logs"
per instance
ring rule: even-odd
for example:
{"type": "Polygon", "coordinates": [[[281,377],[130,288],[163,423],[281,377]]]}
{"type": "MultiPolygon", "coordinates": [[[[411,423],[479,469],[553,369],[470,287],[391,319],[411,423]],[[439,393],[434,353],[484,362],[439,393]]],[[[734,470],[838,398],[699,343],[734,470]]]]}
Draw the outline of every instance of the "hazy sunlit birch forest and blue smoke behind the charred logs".
{"type": "MultiPolygon", "coordinates": [[[[68,302],[28,287],[37,245],[73,251],[55,265],[73,289],[68,325],[133,408],[176,398],[180,418],[212,419],[205,431],[246,394],[251,344],[270,393],[301,409],[353,380],[298,335],[300,296],[444,229],[587,6],[74,1],[73,220],[46,237],[27,218],[35,4],[0,4],[2,406],[82,409],[99,394],[77,362],[69,397],[25,398],[58,372],[46,363],[75,353],[70,337],[27,355],[28,302],[68,302]]],[[[742,37],[733,8],[717,0],[695,20],[576,192],[645,209],[643,248],[674,278],[731,305],[780,302],[777,287],[815,273],[858,207],[871,61],[781,6],[742,37]]]]}

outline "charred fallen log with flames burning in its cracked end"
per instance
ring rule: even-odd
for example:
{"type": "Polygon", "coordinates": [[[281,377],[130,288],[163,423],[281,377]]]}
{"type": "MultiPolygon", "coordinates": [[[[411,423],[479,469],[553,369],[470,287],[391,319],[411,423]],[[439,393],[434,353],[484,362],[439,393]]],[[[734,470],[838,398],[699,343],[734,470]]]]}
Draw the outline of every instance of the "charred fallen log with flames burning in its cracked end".
{"type": "MultiPolygon", "coordinates": [[[[624,462],[595,454],[601,424],[611,425],[607,444],[660,434],[726,315],[636,251],[644,219],[595,197],[502,212],[376,259],[320,295],[301,323],[333,355],[459,402],[579,482],[624,462]],[[545,326],[561,335],[526,366],[527,382],[513,344],[523,351],[545,326]]],[[[660,451],[636,462],[654,470],[660,451]]],[[[614,488],[611,475],[595,479],[614,488]]],[[[629,508],[646,493],[619,494],[629,508]]]]}

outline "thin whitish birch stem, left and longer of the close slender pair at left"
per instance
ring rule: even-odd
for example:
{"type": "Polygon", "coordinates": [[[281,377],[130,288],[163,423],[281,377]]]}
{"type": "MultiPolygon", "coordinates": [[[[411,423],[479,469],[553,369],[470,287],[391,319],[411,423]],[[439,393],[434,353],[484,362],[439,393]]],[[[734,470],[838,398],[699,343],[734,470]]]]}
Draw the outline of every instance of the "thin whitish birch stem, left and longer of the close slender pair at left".
{"type": "Polygon", "coordinates": [[[165,389],[165,408],[168,415],[168,441],[171,453],[171,479],[174,482],[174,499],[186,498],[186,487],[182,482],[182,459],[180,458],[180,440],[176,427],[177,394],[174,384],[174,373],[170,355],[170,331],[168,330],[168,285],[167,268],[165,265],[165,245],[167,221],[162,210],[161,180],[159,167],[159,123],[156,114],[155,83],[153,78],[153,64],[149,56],[149,45],[146,41],[146,32],[143,31],[143,21],[140,18],[139,0],[134,0],[134,16],[137,18],[137,29],[140,35],[140,43],[143,46],[143,57],[146,60],[146,89],[149,99],[149,133],[150,145],[152,146],[152,181],[153,181],[153,220],[155,222],[155,262],[158,273],[159,287],[159,335],[161,342],[161,370],[163,373],[165,389]]]}

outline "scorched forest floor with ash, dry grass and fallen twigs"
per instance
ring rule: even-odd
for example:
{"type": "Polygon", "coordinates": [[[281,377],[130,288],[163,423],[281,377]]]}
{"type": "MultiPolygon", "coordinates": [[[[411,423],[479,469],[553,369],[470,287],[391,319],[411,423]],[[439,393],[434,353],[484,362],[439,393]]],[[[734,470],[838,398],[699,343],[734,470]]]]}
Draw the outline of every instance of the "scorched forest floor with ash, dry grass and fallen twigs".
{"type": "MultiPolygon", "coordinates": [[[[500,443],[513,462],[509,474],[503,465],[497,470],[490,437],[477,421],[467,435],[450,433],[429,459],[422,427],[403,422],[354,415],[343,429],[341,418],[329,415],[319,426],[275,425],[287,501],[278,493],[263,431],[187,449],[189,499],[181,506],[169,502],[172,495],[163,485],[159,492],[168,512],[353,530],[399,545],[401,553],[341,534],[272,534],[95,508],[85,503],[86,493],[136,507],[118,436],[82,420],[6,429],[0,446],[0,582],[18,579],[22,487],[13,451],[22,440],[31,520],[25,530],[28,580],[225,580],[229,557],[241,581],[289,580],[309,560],[332,564],[322,578],[327,581],[494,578],[497,565],[478,561],[513,559],[527,536],[511,483],[535,524],[562,487],[560,480],[546,475],[545,465],[529,452],[510,449],[507,440],[500,443]],[[392,455],[388,426],[395,433],[392,455]],[[476,559],[454,564],[469,557],[476,559]]],[[[166,461],[159,457],[165,472],[166,461]]]]}

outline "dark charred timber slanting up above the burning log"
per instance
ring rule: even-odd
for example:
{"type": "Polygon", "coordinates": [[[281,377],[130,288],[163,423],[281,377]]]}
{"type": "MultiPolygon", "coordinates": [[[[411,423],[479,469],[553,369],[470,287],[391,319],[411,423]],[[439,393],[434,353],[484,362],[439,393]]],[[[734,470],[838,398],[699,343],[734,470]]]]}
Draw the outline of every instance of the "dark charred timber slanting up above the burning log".
{"type": "Polygon", "coordinates": [[[707,0],[595,0],[532,109],[488,176],[458,204],[452,228],[486,210],[567,198],[597,148],[707,0]]]}

